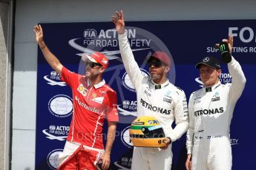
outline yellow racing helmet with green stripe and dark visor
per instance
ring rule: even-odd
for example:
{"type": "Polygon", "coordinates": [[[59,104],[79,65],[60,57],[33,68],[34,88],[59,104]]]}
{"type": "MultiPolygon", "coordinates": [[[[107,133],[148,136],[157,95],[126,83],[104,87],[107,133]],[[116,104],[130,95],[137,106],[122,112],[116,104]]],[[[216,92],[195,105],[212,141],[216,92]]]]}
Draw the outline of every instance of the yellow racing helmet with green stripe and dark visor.
{"type": "Polygon", "coordinates": [[[142,116],[131,123],[130,138],[137,147],[165,146],[165,133],[159,120],[152,116],[142,116]]]}

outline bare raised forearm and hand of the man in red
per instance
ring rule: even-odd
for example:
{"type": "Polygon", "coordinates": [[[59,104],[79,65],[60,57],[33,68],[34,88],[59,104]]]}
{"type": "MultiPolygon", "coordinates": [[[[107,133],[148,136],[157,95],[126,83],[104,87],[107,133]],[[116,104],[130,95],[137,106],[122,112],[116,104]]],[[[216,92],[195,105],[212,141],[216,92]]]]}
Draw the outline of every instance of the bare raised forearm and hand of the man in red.
{"type": "Polygon", "coordinates": [[[47,48],[45,41],[44,41],[44,33],[42,30],[41,25],[36,25],[33,29],[33,31],[36,33],[36,42],[39,44],[40,49],[42,50],[43,55],[45,56],[45,59],[48,64],[50,64],[50,67],[52,67],[56,72],[59,73],[59,75],[62,75],[62,64],[59,62],[59,59],[56,58],[55,55],[53,55],[52,52],[47,48]]]}

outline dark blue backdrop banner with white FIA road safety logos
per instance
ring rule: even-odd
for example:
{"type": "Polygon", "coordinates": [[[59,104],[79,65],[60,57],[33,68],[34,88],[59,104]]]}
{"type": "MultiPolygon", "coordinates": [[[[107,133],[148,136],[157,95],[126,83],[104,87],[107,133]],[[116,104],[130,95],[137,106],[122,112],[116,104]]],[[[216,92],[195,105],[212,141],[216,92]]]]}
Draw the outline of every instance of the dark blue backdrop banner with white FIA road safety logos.
{"type": "MultiPolygon", "coordinates": [[[[149,75],[146,61],[154,51],[162,50],[171,56],[172,84],[186,93],[200,89],[202,82],[194,65],[200,59],[214,55],[220,57],[214,44],[228,35],[234,36],[233,55],[243,67],[246,87],[237,101],[231,124],[233,154],[232,169],[254,167],[256,137],[254,100],[256,72],[255,20],[229,21],[134,21],[126,22],[134,57],[142,74],[149,75]],[[252,131],[252,132],[251,132],[252,131]]],[[[103,77],[115,89],[118,98],[119,123],[111,154],[112,169],[130,169],[133,145],[129,138],[131,121],[137,116],[137,98],[122,65],[118,47],[118,34],[111,22],[42,24],[47,47],[59,61],[81,75],[85,74],[84,53],[94,51],[107,55],[110,65],[103,77]]],[[[226,64],[221,64],[220,81],[232,82],[226,64]]],[[[36,109],[36,169],[56,169],[57,157],[65,145],[73,112],[70,87],[60,81],[38,50],[37,109],[36,109]]],[[[104,134],[108,123],[105,123],[104,134]]],[[[173,125],[174,126],[174,125],[173,125]]],[[[106,135],[103,135],[106,136],[106,135]]],[[[172,170],[185,169],[186,135],[173,143],[172,170]]]]}

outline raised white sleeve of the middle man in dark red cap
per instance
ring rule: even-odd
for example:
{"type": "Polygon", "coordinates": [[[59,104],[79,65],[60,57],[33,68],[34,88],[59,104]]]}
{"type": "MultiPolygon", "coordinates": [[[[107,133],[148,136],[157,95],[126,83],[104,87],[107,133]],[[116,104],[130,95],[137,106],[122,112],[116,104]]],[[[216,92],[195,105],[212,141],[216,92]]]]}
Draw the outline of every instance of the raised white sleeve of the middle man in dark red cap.
{"type": "Polygon", "coordinates": [[[130,44],[128,43],[128,38],[126,34],[119,34],[119,49],[122,56],[122,62],[125,66],[125,70],[131,79],[131,83],[134,84],[135,89],[138,89],[143,75],[140,71],[140,67],[134,59],[134,54],[131,51],[130,44]]]}

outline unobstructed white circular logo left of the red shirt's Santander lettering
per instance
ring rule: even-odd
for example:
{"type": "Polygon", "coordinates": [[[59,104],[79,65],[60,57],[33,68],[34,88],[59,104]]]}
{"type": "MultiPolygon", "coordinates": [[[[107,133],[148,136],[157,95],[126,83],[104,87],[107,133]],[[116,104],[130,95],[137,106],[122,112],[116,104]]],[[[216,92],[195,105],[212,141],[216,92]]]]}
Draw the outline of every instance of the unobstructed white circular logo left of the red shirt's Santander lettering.
{"type": "Polygon", "coordinates": [[[65,118],[72,114],[73,103],[68,95],[56,95],[50,99],[48,109],[57,118],[65,118]]]}

